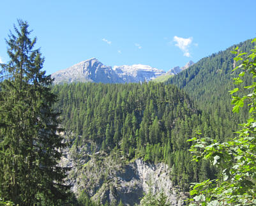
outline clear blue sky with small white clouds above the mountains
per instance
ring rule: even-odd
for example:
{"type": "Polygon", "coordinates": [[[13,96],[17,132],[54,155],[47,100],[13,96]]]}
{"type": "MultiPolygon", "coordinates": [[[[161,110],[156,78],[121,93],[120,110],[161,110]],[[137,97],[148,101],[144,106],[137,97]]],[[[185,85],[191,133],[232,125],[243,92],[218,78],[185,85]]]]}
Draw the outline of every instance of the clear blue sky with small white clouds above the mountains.
{"type": "Polygon", "coordinates": [[[107,66],[162,70],[255,38],[255,0],[1,1],[0,61],[17,18],[26,20],[47,74],[96,57],[107,66]]]}

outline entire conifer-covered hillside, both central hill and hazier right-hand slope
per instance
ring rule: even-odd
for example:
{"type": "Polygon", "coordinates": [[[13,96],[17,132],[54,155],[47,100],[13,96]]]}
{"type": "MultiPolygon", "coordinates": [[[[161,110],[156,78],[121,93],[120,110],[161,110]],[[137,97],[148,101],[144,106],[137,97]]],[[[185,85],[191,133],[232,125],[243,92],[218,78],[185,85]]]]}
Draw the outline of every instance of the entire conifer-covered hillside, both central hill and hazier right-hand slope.
{"type": "MultiPolygon", "coordinates": [[[[243,51],[252,47],[250,40],[239,45],[243,51]]],[[[54,107],[66,131],[73,133],[72,151],[91,141],[94,152],[123,159],[124,164],[138,158],[167,163],[170,178],[184,191],[190,182],[215,178],[218,171],[208,161],[191,162],[186,140],[195,131],[220,142],[229,140],[236,123],[246,119],[243,112],[233,114],[230,106],[228,91],[238,72],[231,73],[234,48],[201,59],[167,84],[55,85],[52,91],[59,101],[54,107]]]]}

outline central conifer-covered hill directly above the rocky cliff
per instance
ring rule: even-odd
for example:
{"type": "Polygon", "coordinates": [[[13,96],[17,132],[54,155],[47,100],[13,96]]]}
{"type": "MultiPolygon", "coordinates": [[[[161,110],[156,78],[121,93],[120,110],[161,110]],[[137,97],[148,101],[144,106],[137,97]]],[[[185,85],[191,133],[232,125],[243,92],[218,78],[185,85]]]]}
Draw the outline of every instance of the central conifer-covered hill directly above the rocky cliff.
{"type": "Polygon", "coordinates": [[[233,132],[217,115],[197,110],[174,85],[78,83],[56,85],[53,91],[64,128],[76,134],[73,147],[93,140],[107,154],[163,161],[173,166],[172,180],[185,190],[189,182],[213,175],[207,163],[190,162],[186,140],[196,130],[217,139],[233,132]]]}

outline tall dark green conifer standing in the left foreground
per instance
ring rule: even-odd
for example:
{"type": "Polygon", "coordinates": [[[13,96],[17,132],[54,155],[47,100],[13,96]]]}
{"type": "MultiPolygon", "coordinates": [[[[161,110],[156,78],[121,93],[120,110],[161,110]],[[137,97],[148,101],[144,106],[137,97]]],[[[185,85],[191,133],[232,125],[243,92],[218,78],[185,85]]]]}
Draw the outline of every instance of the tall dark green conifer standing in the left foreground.
{"type": "Polygon", "coordinates": [[[18,20],[10,33],[10,61],[1,64],[0,196],[19,205],[57,205],[68,195],[66,169],[57,166],[63,137],[52,110],[52,78],[41,71],[43,57],[33,49],[28,24],[18,20]]]}

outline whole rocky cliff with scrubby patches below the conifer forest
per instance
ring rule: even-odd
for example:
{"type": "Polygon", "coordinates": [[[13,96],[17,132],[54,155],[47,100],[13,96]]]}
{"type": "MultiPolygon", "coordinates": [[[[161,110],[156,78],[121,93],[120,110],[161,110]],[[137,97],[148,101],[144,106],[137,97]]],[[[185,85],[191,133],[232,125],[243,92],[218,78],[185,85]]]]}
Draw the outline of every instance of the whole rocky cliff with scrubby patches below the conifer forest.
{"type": "Polygon", "coordinates": [[[82,147],[68,149],[61,161],[62,166],[72,166],[68,183],[76,195],[82,191],[92,200],[124,205],[139,203],[149,192],[163,192],[170,205],[184,205],[186,194],[172,184],[171,169],[164,163],[147,163],[142,159],[131,162],[119,158],[119,154],[108,156],[93,142],[82,147]]]}

